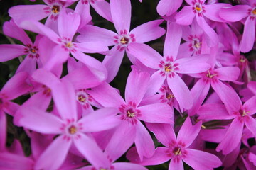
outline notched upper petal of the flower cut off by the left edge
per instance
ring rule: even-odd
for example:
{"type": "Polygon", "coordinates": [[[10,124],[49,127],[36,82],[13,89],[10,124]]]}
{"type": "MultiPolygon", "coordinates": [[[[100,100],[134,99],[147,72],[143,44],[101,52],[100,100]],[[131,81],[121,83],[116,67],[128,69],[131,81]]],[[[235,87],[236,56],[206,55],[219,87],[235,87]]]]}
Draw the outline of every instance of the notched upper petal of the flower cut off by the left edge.
{"type": "Polygon", "coordinates": [[[11,77],[9,81],[4,84],[3,89],[1,89],[1,94],[5,94],[7,100],[12,100],[26,94],[30,89],[26,83],[26,79],[28,79],[28,73],[26,72],[19,72],[11,77]]]}

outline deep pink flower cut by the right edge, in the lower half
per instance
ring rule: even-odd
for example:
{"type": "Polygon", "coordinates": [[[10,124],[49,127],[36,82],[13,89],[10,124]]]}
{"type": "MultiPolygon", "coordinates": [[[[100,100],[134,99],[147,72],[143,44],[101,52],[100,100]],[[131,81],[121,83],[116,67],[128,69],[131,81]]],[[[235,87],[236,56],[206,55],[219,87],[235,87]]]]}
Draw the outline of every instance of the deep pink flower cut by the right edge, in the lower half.
{"type": "Polygon", "coordinates": [[[256,113],[256,96],[250,98],[243,105],[240,98],[233,96],[233,108],[226,110],[221,104],[210,103],[201,106],[198,111],[199,119],[232,120],[225,137],[217,147],[217,151],[229,154],[240,143],[244,125],[256,136],[256,120],[252,117],[256,113]]]}

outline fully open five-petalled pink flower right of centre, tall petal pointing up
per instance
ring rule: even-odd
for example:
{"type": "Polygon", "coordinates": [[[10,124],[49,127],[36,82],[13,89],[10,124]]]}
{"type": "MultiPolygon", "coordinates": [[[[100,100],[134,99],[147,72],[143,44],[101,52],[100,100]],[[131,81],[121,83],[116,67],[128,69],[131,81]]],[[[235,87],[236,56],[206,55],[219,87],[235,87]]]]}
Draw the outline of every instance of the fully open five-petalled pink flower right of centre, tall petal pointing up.
{"type": "Polygon", "coordinates": [[[189,109],[193,106],[193,99],[188,87],[178,74],[206,71],[206,69],[210,68],[210,65],[206,63],[208,56],[198,55],[176,60],[181,42],[181,26],[176,23],[169,23],[167,28],[164,57],[148,45],[139,43],[132,43],[129,47],[129,53],[137,57],[147,67],[156,70],[151,75],[151,83],[147,91],[148,96],[154,95],[156,91],[159,91],[166,80],[181,108],[189,109]]]}

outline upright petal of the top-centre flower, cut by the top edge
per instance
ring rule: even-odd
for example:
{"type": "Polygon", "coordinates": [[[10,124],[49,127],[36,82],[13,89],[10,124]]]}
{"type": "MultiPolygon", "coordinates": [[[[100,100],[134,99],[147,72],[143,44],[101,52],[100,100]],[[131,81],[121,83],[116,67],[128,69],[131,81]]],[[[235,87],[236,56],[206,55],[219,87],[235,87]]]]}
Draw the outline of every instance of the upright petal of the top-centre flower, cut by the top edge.
{"type": "Polygon", "coordinates": [[[117,33],[120,33],[121,30],[127,30],[129,33],[132,11],[131,1],[112,0],[110,2],[110,10],[117,33]]]}

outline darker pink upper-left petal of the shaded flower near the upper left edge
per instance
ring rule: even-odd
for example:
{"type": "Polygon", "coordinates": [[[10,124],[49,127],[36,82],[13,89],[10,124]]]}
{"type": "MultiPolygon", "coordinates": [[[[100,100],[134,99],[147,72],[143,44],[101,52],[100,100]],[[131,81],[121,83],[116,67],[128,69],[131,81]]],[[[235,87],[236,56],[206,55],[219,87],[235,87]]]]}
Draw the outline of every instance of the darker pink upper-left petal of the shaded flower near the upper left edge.
{"type": "MultiPolygon", "coordinates": [[[[10,8],[11,10],[11,8],[10,8]]],[[[24,45],[32,45],[31,39],[24,30],[19,28],[14,20],[4,22],[3,32],[11,38],[20,40],[24,45]]]]}

